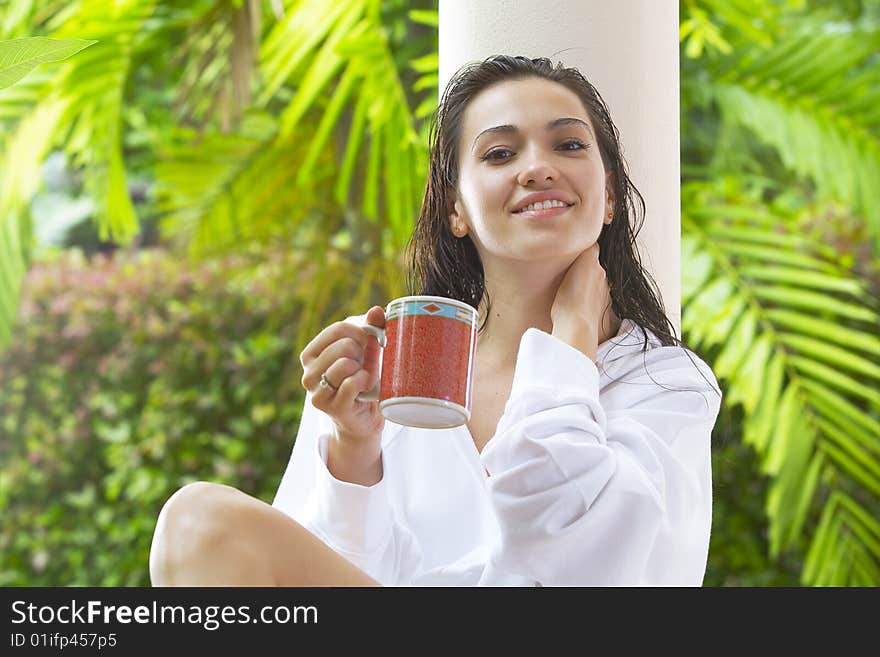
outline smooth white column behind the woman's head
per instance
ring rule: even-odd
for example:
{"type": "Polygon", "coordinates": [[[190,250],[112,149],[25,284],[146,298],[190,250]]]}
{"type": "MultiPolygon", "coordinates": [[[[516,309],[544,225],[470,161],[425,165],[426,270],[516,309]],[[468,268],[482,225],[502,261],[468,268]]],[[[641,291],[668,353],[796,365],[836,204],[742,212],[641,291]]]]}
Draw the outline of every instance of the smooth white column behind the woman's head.
{"type": "Polygon", "coordinates": [[[561,60],[602,94],[645,198],[642,262],[680,335],[678,0],[440,0],[441,92],[496,54],[561,60]]]}

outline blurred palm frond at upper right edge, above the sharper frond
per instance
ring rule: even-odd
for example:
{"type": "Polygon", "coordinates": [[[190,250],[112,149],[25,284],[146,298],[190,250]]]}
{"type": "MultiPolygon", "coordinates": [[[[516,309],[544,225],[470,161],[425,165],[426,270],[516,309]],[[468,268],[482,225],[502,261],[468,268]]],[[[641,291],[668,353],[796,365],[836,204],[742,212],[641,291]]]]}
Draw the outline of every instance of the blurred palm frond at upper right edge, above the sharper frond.
{"type": "Polygon", "coordinates": [[[880,245],[880,27],[799,25],[708,58],[709,93],[819,198],[863,214],[880,245]]]}

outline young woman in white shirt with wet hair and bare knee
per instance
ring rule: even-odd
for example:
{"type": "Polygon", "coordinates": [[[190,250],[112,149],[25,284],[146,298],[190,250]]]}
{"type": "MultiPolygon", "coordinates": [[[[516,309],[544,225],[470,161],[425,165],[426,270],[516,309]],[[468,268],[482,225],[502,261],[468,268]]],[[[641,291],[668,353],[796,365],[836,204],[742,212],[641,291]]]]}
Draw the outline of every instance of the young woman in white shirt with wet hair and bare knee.
{"type": "Polygon", "coordinates": [[[301,353],[273,505],[178,491],[155,584],[702,583],[721,391],[641,266],[644,204],[599,94],[547,59],[492,57],[450,81],[432,128],[410,287],[480,311],[470,422],[386,423],[355,400],[375,338],[334,323],[301,353]]]}

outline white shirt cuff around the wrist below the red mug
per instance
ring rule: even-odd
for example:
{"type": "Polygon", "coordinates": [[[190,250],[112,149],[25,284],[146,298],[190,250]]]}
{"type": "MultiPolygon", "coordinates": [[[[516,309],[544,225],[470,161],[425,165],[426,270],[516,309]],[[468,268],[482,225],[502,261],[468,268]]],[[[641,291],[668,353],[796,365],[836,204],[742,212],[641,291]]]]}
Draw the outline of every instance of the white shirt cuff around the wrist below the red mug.
{"type": "Polygon", "coordinates": [[[373,486],[336,479],[327,468],[329,441],[329,433],[318,436],[313,522],[334,549],[371,553],[382,547],[392,527],[385,476],[373,486]]]}

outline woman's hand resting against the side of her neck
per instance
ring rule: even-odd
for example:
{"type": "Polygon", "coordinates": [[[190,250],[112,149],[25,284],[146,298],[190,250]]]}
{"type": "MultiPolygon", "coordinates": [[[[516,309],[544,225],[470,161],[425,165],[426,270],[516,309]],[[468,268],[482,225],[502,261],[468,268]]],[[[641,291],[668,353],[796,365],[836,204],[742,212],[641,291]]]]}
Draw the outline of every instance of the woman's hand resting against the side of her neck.
{"type": "Polygon", "coordinates": [[[598,346],[617,334],[620,320],[611,304],[599,243],[583,251],[566,271],[550,309],[553,335],[596,358],[598,346]]]}

